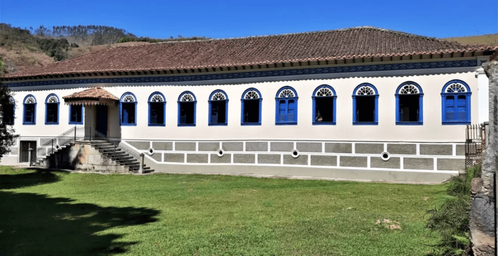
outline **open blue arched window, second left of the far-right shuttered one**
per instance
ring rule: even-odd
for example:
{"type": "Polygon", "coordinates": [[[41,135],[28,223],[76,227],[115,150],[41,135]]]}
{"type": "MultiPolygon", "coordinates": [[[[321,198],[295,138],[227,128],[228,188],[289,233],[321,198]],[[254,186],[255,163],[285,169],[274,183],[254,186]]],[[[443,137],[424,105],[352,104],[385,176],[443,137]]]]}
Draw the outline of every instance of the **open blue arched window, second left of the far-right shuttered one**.
{"type": "Polygon", "coordinates": [[[364,83],[353,91],[353,125],[378,125],[378,92],[364,83]]]}

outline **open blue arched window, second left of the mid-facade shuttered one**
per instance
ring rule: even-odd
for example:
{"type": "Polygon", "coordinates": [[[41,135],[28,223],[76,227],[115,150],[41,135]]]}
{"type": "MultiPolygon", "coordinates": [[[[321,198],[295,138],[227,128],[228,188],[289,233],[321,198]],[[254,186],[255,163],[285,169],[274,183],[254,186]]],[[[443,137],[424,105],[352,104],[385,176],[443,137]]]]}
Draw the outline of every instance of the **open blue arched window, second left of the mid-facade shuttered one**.
{"type": "Polygon", "coordinates": [[[216,90],[209,96],[209,126],[226,126],[228,123],[228,96],[216,90]]]}

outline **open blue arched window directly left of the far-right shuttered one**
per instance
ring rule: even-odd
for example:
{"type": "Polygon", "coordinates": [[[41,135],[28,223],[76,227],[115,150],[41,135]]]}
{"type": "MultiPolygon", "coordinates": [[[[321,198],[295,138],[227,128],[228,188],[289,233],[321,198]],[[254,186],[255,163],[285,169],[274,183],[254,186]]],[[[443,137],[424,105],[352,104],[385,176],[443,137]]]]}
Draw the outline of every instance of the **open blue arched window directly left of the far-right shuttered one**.
{"type": "Polygon", "coordinates": [[[415,82],[404,82],[398,86],[396,93],[396,125],[423,124],[422,88],[415,82]]]}

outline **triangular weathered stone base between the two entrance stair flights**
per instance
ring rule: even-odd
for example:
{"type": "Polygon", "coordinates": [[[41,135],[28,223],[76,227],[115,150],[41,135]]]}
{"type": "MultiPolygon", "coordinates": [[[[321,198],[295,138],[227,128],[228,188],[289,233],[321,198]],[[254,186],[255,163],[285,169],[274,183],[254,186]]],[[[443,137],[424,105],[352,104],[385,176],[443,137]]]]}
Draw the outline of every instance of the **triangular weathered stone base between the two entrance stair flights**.
{"type": "Polygon", "coordinates": [[[89,141],[75,141],[39,164],[47,168],[81,171],[128,172],[129,168],[95,149],[89,141]]]}

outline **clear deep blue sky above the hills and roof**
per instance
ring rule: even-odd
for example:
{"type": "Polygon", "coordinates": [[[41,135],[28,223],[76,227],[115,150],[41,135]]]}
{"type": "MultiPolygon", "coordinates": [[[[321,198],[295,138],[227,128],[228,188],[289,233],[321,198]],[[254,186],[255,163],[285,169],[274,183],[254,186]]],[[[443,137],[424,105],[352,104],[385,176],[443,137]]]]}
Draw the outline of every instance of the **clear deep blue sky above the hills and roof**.
{"type": "Polygon", "coordinates": [[[498,33],[498,0],[0,0],[15,27],[108,25],[137,36],[212,38],[375,26],[453,37],[498,33]]]}

